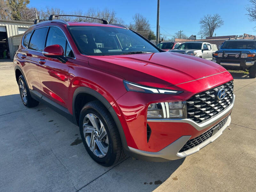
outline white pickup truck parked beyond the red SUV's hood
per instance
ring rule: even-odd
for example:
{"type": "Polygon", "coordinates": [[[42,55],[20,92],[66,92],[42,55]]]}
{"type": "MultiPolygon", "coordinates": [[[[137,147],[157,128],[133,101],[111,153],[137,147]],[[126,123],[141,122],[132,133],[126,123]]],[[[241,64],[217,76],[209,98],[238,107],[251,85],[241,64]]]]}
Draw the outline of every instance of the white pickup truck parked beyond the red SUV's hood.
{"type": "Polygon", "coordinates": [[[177,47],[177,49],[172,49],[170,52],[183,53],[187,55],[193,55],[196,57],[201,57],[207,60],[212,60],[212,53],[217,51],[216,44],[210,44],[207,42],[190,41],[184,42],[177,47]]]}

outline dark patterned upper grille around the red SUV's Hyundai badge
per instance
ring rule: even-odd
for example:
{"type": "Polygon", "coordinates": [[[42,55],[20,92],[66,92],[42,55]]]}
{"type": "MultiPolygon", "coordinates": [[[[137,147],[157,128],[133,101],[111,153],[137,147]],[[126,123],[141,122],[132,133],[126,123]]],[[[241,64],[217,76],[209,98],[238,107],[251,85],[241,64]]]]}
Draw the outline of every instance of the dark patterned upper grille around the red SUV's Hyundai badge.
{"type": "Polygon", "coordinates": [[[188,118],[196,123],[202,123],[219,114],[232,103],[233,87],[233,81],[229,81],[189,98],[187,100],[188,118]],[[217,93],[222,88],[226,90],[226,96],[218,100],[217,93]]]}

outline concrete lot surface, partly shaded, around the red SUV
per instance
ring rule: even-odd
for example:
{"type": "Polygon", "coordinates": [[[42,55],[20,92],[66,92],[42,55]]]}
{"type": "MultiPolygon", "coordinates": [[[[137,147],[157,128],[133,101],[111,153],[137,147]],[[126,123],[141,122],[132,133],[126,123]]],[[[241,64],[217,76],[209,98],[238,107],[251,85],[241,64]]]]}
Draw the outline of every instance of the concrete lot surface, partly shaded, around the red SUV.
{"type": "Polygon", "coordinates": [[[0,60],[0,191],[255,191],[256,79],[232,75],[232,121],[213,143],[176,161],[106,168],[77,126],[43,104],[23,106],[13,64],[0,60]]]}

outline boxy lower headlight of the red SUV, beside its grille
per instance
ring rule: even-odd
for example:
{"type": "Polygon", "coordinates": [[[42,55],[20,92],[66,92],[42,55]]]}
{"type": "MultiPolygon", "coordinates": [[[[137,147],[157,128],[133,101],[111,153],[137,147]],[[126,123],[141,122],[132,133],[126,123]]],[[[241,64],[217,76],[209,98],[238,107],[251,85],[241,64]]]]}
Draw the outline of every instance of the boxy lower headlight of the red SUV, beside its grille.
{"type": "Polygon", "coordinates": [[[148,106],[147,118],[187,118],[186,101],[152,103],[148,106]]]}

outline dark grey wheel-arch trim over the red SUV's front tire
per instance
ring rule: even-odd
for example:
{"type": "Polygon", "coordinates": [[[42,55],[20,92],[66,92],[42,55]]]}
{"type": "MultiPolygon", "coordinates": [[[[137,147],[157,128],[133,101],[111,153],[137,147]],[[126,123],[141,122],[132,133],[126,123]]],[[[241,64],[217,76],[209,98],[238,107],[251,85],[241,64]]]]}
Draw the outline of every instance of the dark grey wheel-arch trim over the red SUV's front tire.
{"type": "Polygon", "coordinates": [[[100,102],[103,103],[103,105],[108,109],[109,113],[111,114],[111,116],[113,117],[113,119],[116,123],[116,126],[117,126],[118,132],[120,134],[124,150],[125,151],[130,151],[130,149],[128,148],[128,145],[127,145],[125,135],[124,135],[124,130],[123,130],[122,124],[121,124],[118,116],[116,115],[116,112],[115,112],[114,108],[110,105],[108,100],[105,99],[105,97],[103,97],[99,92],[94,91],[93,89],[90,89],[88,87],[77,87],[76,88],[76,90],[73,94],[73,100],[72,100],[72,112],[73,112],[73,122],[74,122],[74,124],[78,125],[77,122],[76,122],[76,114],[75,114],[75,100],[76,100],[76,96],[79,93],[90,94],[90,95],[94,96],[95,98],[97,98],[98,100],[100,100],[100,102]]]}

